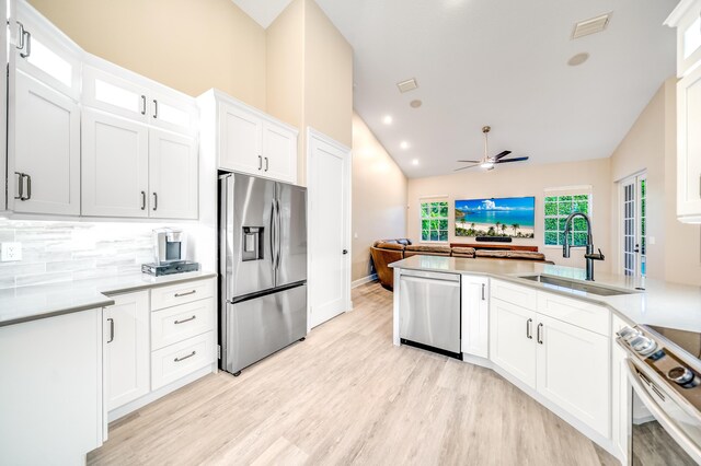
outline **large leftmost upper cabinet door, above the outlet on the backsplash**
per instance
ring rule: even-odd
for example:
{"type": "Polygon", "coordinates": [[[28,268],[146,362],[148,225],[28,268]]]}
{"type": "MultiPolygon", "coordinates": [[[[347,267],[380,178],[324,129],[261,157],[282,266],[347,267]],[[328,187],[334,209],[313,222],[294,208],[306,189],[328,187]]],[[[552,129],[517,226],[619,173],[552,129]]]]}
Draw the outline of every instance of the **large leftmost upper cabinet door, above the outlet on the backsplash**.
{"type": "Polygon", "coordinates": [[[80,213],[80,114],[76,102],[18,72],[10,136],[12,210],[80,213]],[[19,174],[24,174],[19,175],[19,174]],[[20,183],[22,180],[22,183],[20,183]],[[20,199],[22,189],[22,199],[20,199]]]}

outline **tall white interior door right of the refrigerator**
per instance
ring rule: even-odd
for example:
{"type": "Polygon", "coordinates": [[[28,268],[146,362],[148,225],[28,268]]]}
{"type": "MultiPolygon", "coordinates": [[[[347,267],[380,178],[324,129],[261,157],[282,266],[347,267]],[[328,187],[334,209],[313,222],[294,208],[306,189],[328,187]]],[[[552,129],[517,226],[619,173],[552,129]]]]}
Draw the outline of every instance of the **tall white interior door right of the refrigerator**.
{"type": "Polygon", "coordinates": [[[350,150],[309,130],[309,325],[350,308],[350,150]]]}

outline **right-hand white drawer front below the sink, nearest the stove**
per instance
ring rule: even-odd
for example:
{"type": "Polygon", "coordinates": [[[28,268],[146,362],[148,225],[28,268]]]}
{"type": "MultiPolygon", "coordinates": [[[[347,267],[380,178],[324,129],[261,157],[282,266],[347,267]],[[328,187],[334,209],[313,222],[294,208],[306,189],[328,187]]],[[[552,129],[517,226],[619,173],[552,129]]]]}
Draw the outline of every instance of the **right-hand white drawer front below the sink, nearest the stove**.
{"type": "Polygon", "coordinates": [[[610,312],[604,306],[539,291],[538,312],[600,335],[611,335],[610,312]]]}

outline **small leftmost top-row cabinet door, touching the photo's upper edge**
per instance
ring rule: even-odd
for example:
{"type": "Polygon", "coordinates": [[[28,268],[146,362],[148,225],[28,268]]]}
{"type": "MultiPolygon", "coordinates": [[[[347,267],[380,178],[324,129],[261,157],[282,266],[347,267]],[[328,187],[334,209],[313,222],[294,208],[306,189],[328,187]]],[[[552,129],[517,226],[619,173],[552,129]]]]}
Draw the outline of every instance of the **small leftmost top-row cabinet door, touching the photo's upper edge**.
{"type": "MultiPolygon", "coordinates": [[[[27,2],[18,1],[11,48],[18,70],[80,100],[81,49],[27,2]]],[[[13,70],[11,70],[13,71],[13,70]]]]}

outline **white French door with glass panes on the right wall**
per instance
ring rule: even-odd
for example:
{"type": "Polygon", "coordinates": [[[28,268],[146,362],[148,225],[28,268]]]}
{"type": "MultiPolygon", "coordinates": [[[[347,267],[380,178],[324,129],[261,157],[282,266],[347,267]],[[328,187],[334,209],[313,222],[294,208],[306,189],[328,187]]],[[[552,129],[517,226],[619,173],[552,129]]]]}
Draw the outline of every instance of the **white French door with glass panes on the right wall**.
{"type": "Polygon", "coordinates": [[[647,175],[631,176],[621,186],[621,232],[623,273],[645,277],[647,273],[647,175]]]}

